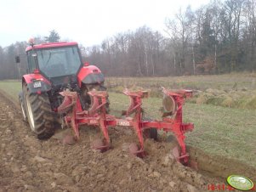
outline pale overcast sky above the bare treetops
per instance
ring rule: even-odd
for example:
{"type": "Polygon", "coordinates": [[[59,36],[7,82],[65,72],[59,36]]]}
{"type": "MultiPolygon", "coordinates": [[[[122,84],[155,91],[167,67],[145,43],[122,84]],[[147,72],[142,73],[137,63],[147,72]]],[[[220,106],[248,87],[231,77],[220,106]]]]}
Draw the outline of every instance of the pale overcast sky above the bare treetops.
{"type": "Polygon", "coordinates": [[[84,46],[99,44],[118,32],[147,25],[161,31],[166,18],[191,4],[209,0],[0,0],[0,46],[29,37],[59,32],[65,40],[84,46]]]}

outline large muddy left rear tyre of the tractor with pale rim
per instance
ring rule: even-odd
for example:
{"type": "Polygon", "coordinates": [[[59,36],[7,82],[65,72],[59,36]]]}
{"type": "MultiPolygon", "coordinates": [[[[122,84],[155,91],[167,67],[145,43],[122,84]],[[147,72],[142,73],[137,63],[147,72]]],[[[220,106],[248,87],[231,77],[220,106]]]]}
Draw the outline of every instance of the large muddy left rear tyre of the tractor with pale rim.
{"type": "Polygon", "coordinates": [[[31,93],[29,88],[23,87],[26,116],[31,131],[38,139],[50,138],[54,134],[54,116],[47,93],[31,93]]]}

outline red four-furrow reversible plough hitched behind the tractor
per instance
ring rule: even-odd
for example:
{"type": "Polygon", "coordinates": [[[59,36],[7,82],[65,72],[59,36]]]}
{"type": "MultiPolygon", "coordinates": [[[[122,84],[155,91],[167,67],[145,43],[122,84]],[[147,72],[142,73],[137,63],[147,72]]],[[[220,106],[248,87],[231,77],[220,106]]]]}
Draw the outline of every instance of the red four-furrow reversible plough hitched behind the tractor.
{"type": "Polygon", "coordinates": [[[97,139],[93,143],[94,149],[100,151],[108,150],[111,147],[110,137],[108,134],[109,127],[133,127],[139,138],[139,146],[130,144],[129,150],[134,155],[143,157],[145,130],[152,128],[162,129],[165,132],[174,133],[179,142],[179,148],[174,148],[173,155],[177,161],[188,165],[189,155],[185,148],[185,133],[192,131],[192,123],[183,123],[182,106],[185,99],[192,96],[190,90],[169,91],[162,88],[164,94],[162,121],[145,121],[143,120],[143,110],[141,108],[142,99],[147,98],[149,93],[146,91],[130,92],[126,89],[123,93],[130,98],[128,110],[122,111],[125,119],[117,119],[115,116],[106,114],[106,92],[91,91],[89,92],[93,99],[93,104],[89,110],[82,110],[79,96],[76,92],[65,91],[61,94],[65,97],[58,108],[60,114],[65,114],[65,124],[70,125],[75,133],[75,138],[79,139],[79,126],[82,124],[94,125],[100,127],[104,139],[97,139]]]}

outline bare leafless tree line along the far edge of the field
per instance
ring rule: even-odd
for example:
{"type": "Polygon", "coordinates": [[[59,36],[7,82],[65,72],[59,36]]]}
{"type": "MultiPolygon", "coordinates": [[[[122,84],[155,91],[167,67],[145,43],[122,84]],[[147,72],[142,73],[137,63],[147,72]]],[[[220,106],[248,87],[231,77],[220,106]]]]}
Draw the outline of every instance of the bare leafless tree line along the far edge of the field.
{"type": "MultiPolygon", "coordinates": [[[[213,0],[196,10],[180,8],[172,19],[165,20],[164,33],[142,26],[82,48],[82,55],[106,76],[255,71],[255,16],[255,0],[213,0]]],[[[45,41],[49,38],[37,38],[37,42],[45,41]]],[[[24,53],[25,47],[26,42],[0,47],[0,78],[15,78],[26,72],[26,59],[18,68],[14,64],[14,54],[24,53]]]]}

